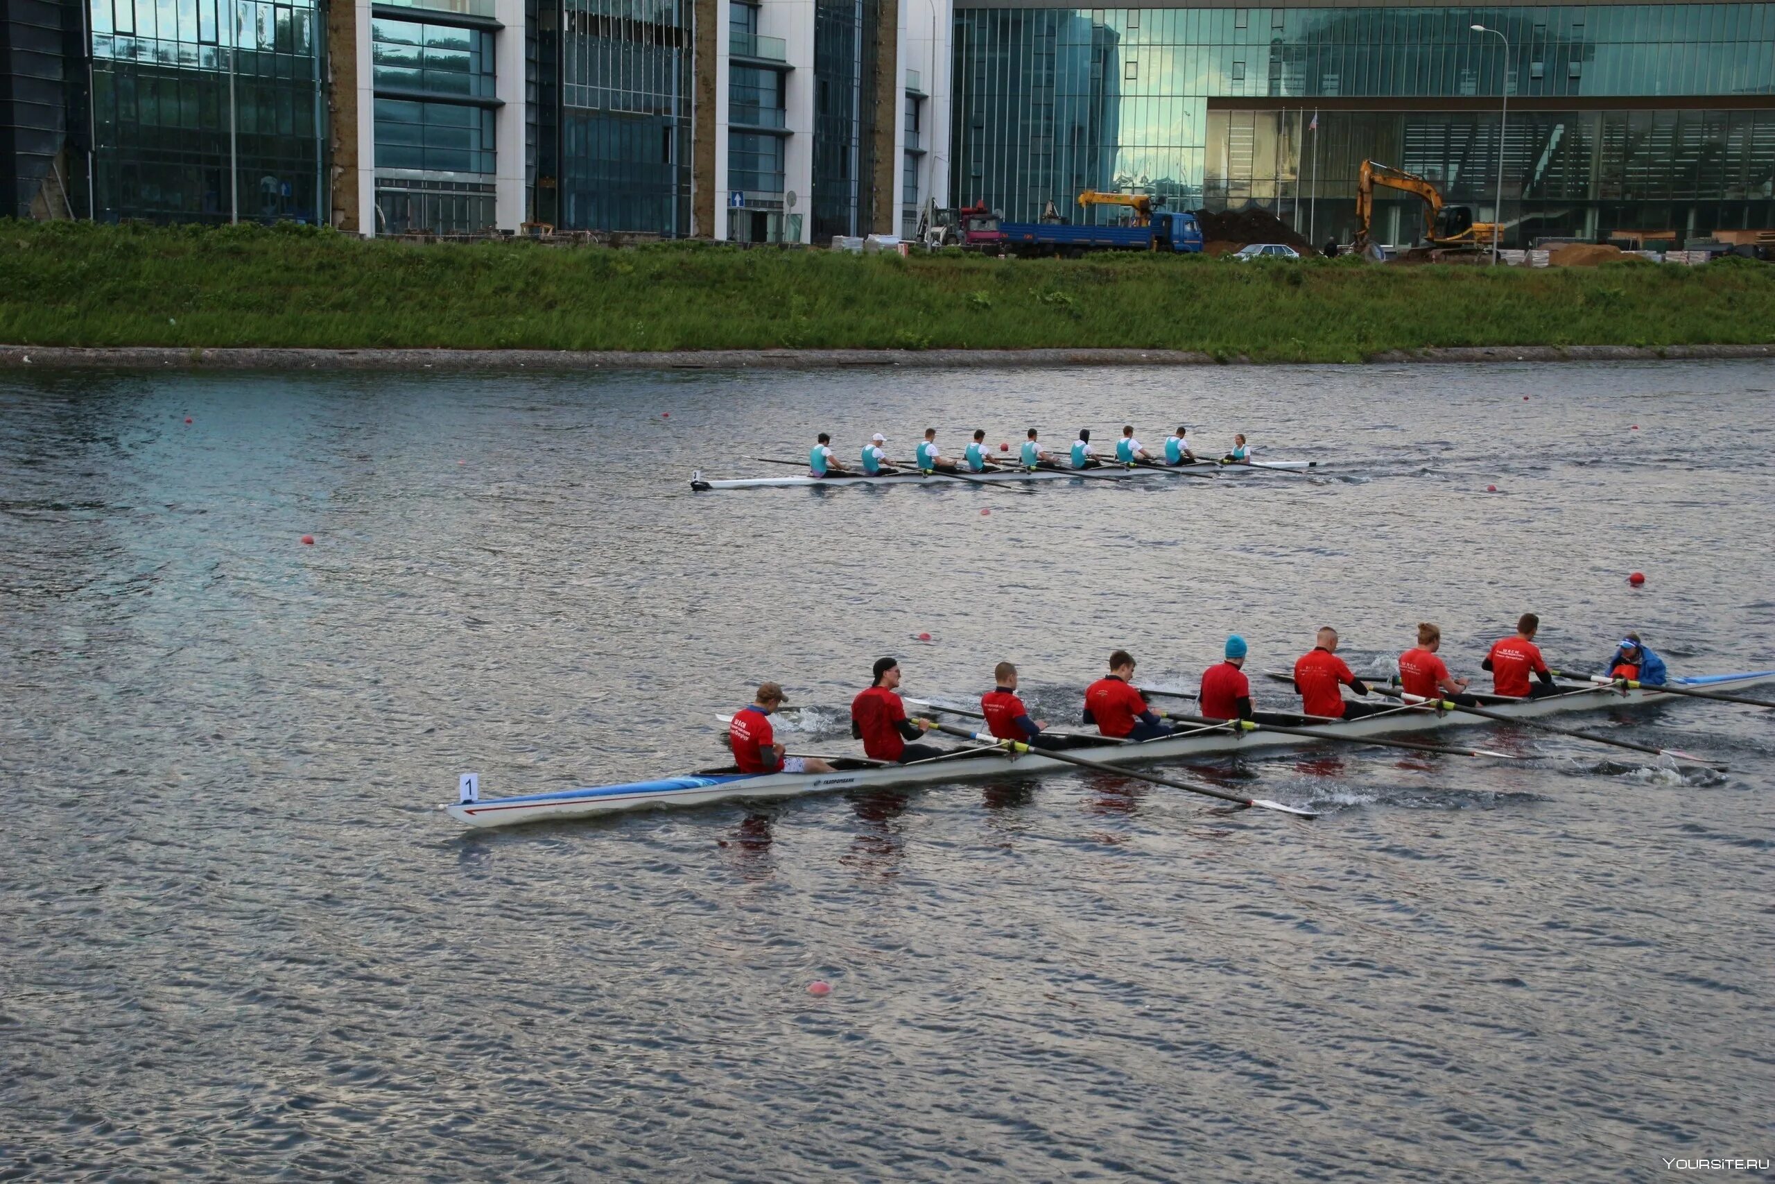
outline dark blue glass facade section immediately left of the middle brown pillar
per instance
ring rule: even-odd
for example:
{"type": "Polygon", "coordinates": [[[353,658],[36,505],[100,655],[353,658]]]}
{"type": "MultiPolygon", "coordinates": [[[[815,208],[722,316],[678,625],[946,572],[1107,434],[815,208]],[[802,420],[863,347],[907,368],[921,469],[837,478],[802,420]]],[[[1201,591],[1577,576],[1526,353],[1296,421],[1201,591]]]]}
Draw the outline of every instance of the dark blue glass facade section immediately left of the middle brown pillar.
{"type": "Polygon", "coordinates": [[[561,225],[690,227],[690,0],[566,0],[561,225]]]}

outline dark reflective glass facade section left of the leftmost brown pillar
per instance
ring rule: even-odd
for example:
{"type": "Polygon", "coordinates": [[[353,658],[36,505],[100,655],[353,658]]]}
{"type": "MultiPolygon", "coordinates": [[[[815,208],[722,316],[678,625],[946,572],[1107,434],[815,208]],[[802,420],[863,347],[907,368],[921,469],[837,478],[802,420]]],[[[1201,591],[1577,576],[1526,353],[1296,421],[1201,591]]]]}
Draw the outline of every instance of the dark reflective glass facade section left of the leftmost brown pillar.
{"type": "Polygon", "coordinates": [[[91,0],[87,11],[96,218],[321,218],[312,4],[91,0]]]}

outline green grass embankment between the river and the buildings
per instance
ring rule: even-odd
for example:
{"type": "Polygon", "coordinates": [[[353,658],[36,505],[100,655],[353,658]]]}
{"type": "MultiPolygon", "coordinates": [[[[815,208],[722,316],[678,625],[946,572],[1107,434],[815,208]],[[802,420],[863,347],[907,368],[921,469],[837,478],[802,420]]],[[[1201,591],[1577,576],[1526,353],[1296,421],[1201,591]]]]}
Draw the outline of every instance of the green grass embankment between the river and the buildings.
{"type": "Polygon", "coordinates": [[[1202,350],[1764,344],[1775,266],[1601,268],[412,245],[302,227],[0,222],[0,343],[1202,350]]]}

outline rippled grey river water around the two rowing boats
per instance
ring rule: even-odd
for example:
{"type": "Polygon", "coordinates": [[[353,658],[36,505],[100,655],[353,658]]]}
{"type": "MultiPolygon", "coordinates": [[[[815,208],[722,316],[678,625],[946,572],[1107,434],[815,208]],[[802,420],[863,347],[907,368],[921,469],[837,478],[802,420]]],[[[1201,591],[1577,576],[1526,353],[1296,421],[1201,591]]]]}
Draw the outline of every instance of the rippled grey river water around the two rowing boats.
{"type": "Polygon", "coordinates": [[[1725,774],[1509,728],[1464,735],[1532,760],[1182,770],[1317,822],[1099,774],[474,834],[435,806],[469,769],[710,763],[760,678],[797,746],[856,751],[882,653],[958,703],[1012,659],[1056,722],[1111,648],[1189,687],[1228,630],[1266,669],[1331,623],[1361,671],[1434,620],[1477,675],[1537,611],[1555,664],[1640,628],[1679,673],[1771,667],[1771,392],[1766,362],[0,378],[0,1179],[1768,1157],[1771,712],[1590,717],[1725,774]],[[953,454],[1129,417],[1324,470],[687,483],[822,428],[953,454]]]}

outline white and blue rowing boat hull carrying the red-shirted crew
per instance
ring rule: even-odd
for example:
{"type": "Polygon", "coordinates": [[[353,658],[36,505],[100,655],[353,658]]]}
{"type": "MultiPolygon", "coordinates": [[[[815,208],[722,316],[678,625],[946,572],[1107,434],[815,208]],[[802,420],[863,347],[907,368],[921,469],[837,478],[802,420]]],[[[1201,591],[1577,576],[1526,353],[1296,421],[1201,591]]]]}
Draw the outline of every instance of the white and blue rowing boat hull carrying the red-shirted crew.
{"type": "MultiPolygon", "coordinates": [[[[1679,687],[1755,687],[1775,682],[1775,671],[1752,671],[1743,675],[1709,675],[1700,678],[1674,678],[1679,687]]],[[[1511,715],[1512,719],[1535,719],[1562,712],[1601,710],[1642,703],[1670,703],[1676,696],[1660,694],[1654,689],[1619,691],[1615,687],[1578,687],[1562,694],[1541,699],[1503,699],[1498,696],[1479,696],[1487,710],[1511,715]]],[[[1416,708],[1397,708],[1379,715],[1365,715],[1342,722],[1315,722],[1321,731],[1335,730],[1351,738],[1390,735],[1395,731],[1427,731],[1431,728],[1471,728],[1489,721],[1473,715],[1440,715],[1416,708]]],[[[1242,753],[1250,749],[1301,747],[1314,740],[1301,740],[1278,731],[1234,733],[1223,728],[1203,728],[1186,735],[1161,737],[1141,744],[1104,746],[1088,749],[1092,760],[1106,765],[1134,765],[1148,762],[1184,760],[1200,756],[1218,756],[1242,753]]],[[[825,774],[742,774],[733,767],[692,772],[660,781],[637,781],[632,785],[600,785],[579,790],[559,790],[554,793],[531,793],[525,797],[502,797],[479,801],[479,776],[462,774],[462,801],[444,806],[444,809],[472,827],[515,825],[518,822],[584,818],[618,809],[637,809],[648,806],[703,806],[728,799],[770,799],[801,797],[804,793],[829,793],[832,790],[861,790],[898,785],[928,785],[939,781],[964,781],[974,777],[1033,776],[1038,772],[1056,772],[1070,765],[1031,753],[1010,756],[1003,749],[967,749],[955,754],[912,762],[907,765],[877,765],[857,760],[836,760],[834,772],[825,774]]]]}

